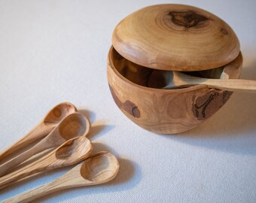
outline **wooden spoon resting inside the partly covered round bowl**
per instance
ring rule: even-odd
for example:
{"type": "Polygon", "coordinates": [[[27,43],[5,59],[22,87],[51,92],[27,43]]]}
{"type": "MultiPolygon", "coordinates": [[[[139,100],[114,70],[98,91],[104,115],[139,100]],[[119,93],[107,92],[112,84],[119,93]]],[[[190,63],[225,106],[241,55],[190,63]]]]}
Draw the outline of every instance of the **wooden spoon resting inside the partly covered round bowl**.
{"type": "Polygon", "coordinates": [[[178,71],[166,71],[165,78],[168,80],[165,86],[162,86],[157,78],[160,78],[160,74],[163,71],[153,71],[151,77],[148,80],[148,86],[162,89],[174,89],[182,86],[193,86],[198,84],[205,84],[209,88],[224,89],[228,91],[238,92],[254,92],[256,93],[256,81],[255,80],[242,80],[242,79],[208,79],[203,77],[193,77],[188,74],[184,74],[178,71]]]}

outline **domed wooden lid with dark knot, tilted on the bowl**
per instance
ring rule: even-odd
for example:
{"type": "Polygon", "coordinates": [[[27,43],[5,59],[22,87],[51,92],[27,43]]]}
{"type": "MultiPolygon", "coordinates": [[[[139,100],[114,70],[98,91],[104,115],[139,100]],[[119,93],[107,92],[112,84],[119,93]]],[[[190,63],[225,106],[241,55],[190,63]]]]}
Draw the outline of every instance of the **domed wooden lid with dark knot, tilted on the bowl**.
{"type": "Polygon", "coordinates": [[[154,5],[130,14],[114,29],[112,44],[136,64],[172,71],[218,68],[240,50],[227,23],[188,5],[154,5]]]}

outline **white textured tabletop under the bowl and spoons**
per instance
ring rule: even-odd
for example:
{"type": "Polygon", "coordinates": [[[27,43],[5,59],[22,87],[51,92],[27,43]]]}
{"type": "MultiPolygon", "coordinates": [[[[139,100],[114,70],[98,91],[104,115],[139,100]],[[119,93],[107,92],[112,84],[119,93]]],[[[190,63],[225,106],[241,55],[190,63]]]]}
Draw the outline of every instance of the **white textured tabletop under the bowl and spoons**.
{"type": "MultiPolygon", "coordinates": [[[[44,202],[256,202],[256,95],[234,93],[202,126],[155,135],[128,120],[108,89],[111,34],[148,5],[194,5],[225,20],[244,56],[241,78],[256,80],[256,3],[237,1],[0,1],[0,150],[29,132],[59,102],[92,123],[95,151],[117,156],[120,171],[102,186],[70,189],[44,202]]],[[[0,201],[48,183],[69,168],[0,191],[0,201]]],[[[39,200],[38,200],[39,201],[39,200]]]]}

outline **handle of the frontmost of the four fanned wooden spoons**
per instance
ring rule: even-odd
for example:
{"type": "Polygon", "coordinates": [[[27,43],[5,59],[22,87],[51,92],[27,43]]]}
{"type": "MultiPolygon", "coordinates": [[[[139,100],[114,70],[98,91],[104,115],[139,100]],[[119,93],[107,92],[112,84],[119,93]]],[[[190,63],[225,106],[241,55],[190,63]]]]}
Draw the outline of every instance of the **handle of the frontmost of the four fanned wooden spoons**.
{"type": "Polygon", "coordinates": [[[84,178],[81,177],[80,174],[80,168],[83,162],[76,165],[74,168],[72,168],[69,172],[62,175],[62,177],[59,177],[56,180],[53,180],[53,182],[47,183],[43,186],[39,186],[38,188],[29,190],[28,192],[24,192],[20,195],[15,196],[14,198],[9,198],[8,200],[3,201],[3,203],[8,202],[30,202],[37,198],[41,198],[44,195],[48,195],[52,192],[59,191],[61,189],[71,189],[78,186],[84,186],[81,184],[78,184],[80,180],[84,182],[84,178]]]}

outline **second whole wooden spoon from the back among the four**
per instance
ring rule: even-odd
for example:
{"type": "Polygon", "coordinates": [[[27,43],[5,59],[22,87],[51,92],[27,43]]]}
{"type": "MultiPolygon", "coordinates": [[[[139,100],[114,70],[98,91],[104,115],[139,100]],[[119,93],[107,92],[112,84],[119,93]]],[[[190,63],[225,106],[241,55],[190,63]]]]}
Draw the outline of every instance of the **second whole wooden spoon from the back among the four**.
{"type": "Polygon", "coordinates": [[[29,157],[34,156],[44,150],[52,147],[58,147],[65,141],[78,137],[78,135],[87,135],[90,130],[90,121],[83,114],[75,112],[65,117],[58,126],[50,132],[44,139],[42,139],[34,147],[16,156],[14,159],[6,162],[0,166],[0,177],[6,174],[8,170],[24,162],[29,157]]]}

